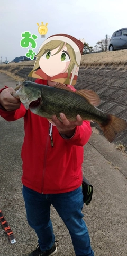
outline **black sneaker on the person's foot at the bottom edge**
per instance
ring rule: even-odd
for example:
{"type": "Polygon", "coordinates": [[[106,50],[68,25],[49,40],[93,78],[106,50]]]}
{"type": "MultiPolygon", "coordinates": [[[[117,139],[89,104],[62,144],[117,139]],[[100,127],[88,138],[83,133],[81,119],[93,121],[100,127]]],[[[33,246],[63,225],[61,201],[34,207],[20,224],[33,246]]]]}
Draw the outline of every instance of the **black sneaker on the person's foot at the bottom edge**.
{"type": "Polygon", "coordinates": [[[55,244],[53,244],[53,246],[51,247],[51,249],[42,252],[40,249],[39,244],[37,245],[36,250],[34,250],[33,252],[31,252],[31,254],[29,254],[29,256],[51,256],[53,254],[55,254],[57,251],[57,247],[55,244]]]}

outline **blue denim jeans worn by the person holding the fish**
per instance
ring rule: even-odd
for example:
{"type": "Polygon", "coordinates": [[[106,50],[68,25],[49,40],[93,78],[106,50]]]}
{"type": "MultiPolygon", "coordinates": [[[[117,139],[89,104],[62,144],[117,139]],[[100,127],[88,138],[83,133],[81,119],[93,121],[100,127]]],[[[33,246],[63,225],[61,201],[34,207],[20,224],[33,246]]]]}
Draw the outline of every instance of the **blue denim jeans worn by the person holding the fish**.
{"type": "Polygon", "coordinates": [[[42,251],[51,249],[55,242],[50,220],[51,204],[69,230],[76,256],[94,256],[90,238],[83,220],[83,193],[81,187],[61,194],[40,194],[23,186],[29,225],[35,230],[42,251]]]}

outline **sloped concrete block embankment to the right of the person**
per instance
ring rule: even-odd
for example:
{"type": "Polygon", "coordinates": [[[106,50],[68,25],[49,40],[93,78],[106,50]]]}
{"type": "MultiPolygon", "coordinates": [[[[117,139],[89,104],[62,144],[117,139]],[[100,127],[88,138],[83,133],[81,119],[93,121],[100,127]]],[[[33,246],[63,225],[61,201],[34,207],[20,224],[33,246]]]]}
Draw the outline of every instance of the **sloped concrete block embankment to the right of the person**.
{"type": "MultiPolygon", "coordinates": [[[[94,90],[101,98],[99,109],[127,119],[127,70],[124,68],[80,67],[75,87],[94,90]]],[[[97,123],[92,126],[101,131],[97,123]]],[[[114,142],[122,143],[127,149],[127,130],[117,135],[114,142]]]]}

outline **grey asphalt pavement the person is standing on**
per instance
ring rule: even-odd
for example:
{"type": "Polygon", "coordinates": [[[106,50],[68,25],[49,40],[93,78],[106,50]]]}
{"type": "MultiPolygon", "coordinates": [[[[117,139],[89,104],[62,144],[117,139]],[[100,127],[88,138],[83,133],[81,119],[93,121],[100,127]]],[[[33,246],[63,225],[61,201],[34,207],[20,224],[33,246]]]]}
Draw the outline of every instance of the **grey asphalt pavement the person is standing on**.
{"type": "MultiPolygon", "coordinates": [[[[0,88],[15,87],[16,81],[0,73],[0,88]]],[[[0,117],[0,209],[13,230],[11,245],[0,225],[0,255],[28,256],[37,237],[26,221],[22,198],[23,119],[7,122],[0,117]]],[[[94,186],[93,199],[83,213],[95,256],[127,255],[127,157],[103,135],[93,133],[84,147],[84,176],[94,186]]],[[[56,235],[56,256],[74,256],[70,235],[56,210],[51,208],[56,235]]]]}

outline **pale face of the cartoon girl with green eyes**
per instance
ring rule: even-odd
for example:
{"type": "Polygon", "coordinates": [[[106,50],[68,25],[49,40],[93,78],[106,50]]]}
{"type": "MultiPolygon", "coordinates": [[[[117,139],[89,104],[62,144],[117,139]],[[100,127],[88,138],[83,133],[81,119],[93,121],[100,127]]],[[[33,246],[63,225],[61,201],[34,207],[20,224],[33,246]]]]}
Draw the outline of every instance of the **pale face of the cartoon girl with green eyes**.
{"type": "Polygon", "coordinates": [[[60,46],[51,51],[48,49],[39,60],[41,70],[50,77],[56,75],[56,66],[57,74],[65,73],[71,61],[66,43],[60,52],[58,52],[59,48],[60,46]]]}

